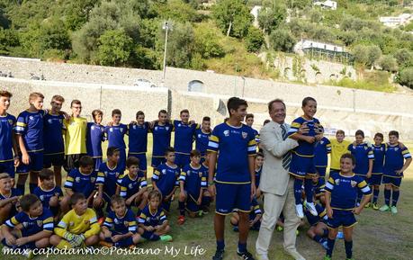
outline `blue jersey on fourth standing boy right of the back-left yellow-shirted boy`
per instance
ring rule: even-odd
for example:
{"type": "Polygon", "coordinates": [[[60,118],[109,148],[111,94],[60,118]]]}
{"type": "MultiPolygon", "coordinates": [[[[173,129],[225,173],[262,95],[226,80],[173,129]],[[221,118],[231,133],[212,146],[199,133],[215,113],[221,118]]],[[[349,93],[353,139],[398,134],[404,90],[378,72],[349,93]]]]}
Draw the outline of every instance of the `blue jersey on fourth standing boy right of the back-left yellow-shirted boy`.
{"type": "Polygon", "coordinates": [[[153,157],[164,157],[166,148],[171,146],[171,133],[174,130],[174,126],[169,122],[166,122],[165,125],[159,125],[158,122],[155,122],[152,129],[153,135],[153,148],[152,156],[153,157]]]}

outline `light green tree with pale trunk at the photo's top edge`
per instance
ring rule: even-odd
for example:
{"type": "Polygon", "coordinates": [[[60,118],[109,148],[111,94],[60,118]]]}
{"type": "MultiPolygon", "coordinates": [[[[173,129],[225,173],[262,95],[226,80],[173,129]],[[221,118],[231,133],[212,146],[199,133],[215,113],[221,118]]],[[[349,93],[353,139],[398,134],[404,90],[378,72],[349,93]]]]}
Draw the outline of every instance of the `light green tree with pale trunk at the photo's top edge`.
{"type": "Polygon", "coordinates": [[[212,8],[212,17],[220,30],[230,36],[247,35],[253,16],[243,0],[220,0],[212,8]]]}

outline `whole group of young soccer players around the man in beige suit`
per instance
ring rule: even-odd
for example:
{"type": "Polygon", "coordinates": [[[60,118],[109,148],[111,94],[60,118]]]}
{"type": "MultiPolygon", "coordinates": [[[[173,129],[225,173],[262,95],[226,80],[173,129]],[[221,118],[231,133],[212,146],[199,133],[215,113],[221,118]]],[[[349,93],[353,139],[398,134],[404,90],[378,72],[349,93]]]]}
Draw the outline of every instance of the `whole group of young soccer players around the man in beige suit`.
{"type": "MultiPolygon", "coordinates": [[[[234,159],[219,151],[223,147],[219,149],[218,133],[225,138],[230,129],[220,124],[212,133],[209,117],[198,124],[189,120],[188,110],[183,110],[180,120],[170,121],[167,112],[161,110],[156,121],[145,121],[144,112],[139,111],[136,121],[123,124],[121,111],[115,109],[112,121],[103,126],[102,111],[94,110],[94,122],[87,122],[80,117],[80,101],[71,103],[72,114],[68,115],[61,112],[62,96],[53,96],[51,108],[45,110],[44,96],[32,93],[29,109],[16,119],[7,113],[11,97],[11,93],[0,91],[0,240],[4,247],[134,247],[145,240],[172,241],[167,215],[173,200],[178,202],[177,223],[183,225],[186,213],[194,218],[210,211],[214,194],[209,186],[216,184],[217,191],[230,193],[232,186],[226,184],[238,183],[242,176],[245,180],[241,181],[248,183],[247,163],[241,164],[245,169],[239,169],[240,173],[246,173],[241,177],[223,175],[219,166],[218,182],[215,177],[209,181],[210,157],[212,164],[217,162],[214,152],[218,152],[219,165],[234,159]],[[172,131],[174,148],[170,148],[172,131]],[[153,135],[154,168],[150,183],[149,133],[153,135]],[[128,154],[125,135],[129,139],[128,154]],[[105,162],[103,141],[108,141],[105,162]],[[63,187],[62,166],[67,171],[63,187]],[[19,175],[17,182],[15,173],[19,175]],[[22,195],[28,176],[30,193],[22,195]]],[[[385,204],[380,210],[397,213],[400,183],[411,156],[399,142],[397,131],[389,133],[388,143],[383,143],[383,135],[377,133],[373,145],[364,141],[362,130],[356,131],[353,143],[344,140],[343,130],[337,130],[336,139],[329,140],[323,137],[323,128],[314,118],[316,100],[305,98],[302,109],[304,115],[292,121],[288,132],[289,138],[299,142],[292,150],[290,166],[295,178],[296,212],[310,223],[310,238],[327,249],[325,259],[331,259],[337,229],[343,227],[346,255],[351,259],[354,213],[370,205],[379,209],[381,184],[385,184],[385,204]],[[328,154],[331,162],[326,182],[328,154]]],[[[252,129],[254,116],[247,114],[245,121],[243,127],[248,130],[242,131],[242,138],[251,139],[251,148],[256,149],[256,143],[260,148],[258,131],[252,129]]],[[[265,158],[251,148],[247,152],[254,155],[254,197],[238,209],[227,207],[223,200],[216,205],[218,214],[232,214],[230,222],[236,231],[240,218],[244,218],[239,213],[249,212],[249,229],[255,230],[260,228],[263,213],[260,206],[265,198],[259,190],[259,177],[265,158]]],[[[279,223],[282,225],[282,220],[279,223]]]]}

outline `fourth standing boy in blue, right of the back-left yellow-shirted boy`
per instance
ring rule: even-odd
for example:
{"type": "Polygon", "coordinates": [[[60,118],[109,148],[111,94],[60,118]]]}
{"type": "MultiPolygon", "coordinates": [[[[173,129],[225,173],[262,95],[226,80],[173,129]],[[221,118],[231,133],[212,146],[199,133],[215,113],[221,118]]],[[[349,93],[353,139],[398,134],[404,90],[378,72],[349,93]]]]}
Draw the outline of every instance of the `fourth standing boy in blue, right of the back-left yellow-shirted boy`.
{"type": "Polygon", "coordinates": [[[166,110],[161,110],[157,113],[157,121],[152,125],[152,162],[151,165],[155,169],[160,164],[165,163],[165,151],[171,146],[171,133],[174,126],[167,119],[166,110]]]}

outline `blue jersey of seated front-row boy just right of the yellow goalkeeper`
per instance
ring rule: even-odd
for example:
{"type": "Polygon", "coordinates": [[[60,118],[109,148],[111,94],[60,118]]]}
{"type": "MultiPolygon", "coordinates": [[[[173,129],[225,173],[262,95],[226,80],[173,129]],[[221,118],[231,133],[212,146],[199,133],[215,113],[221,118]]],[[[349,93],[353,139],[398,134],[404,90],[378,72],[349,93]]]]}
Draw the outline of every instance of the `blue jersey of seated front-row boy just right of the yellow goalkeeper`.
{"type": "Polygon", "coordinates": [[[126,209],[123,216],[118,216],[114,211],[110,211],[103,222],[103,227],[120,234],[136,233],[138,231],[135,215],[130,209],[126,209]]]}

